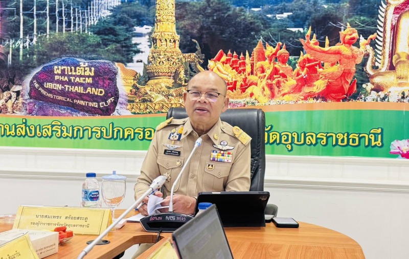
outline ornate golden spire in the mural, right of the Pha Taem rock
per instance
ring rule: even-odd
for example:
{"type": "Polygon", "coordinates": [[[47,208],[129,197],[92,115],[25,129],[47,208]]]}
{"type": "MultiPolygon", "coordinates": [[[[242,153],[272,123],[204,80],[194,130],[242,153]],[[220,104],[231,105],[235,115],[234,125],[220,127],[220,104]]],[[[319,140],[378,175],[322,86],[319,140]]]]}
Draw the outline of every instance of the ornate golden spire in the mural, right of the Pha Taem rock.
{"type": "MultiPolygon", "coordinates": [[[[1,1],[1,0],[0,0],[1,1]]],[[[170,107],[183,107],[189,79],[199,71],[205,55],[196,40],[195,53],[181,53],[176,34],[175,0],[156,0],[152,47],[143,74],[133,77],[137,93],[128,97],[128,110],[133,114],[166,113],[170,107]]],[[[220,58],[223,58],[223,53],[220,58]]],[[[129,95],[128,95],[129,96],[129,95]]]]}

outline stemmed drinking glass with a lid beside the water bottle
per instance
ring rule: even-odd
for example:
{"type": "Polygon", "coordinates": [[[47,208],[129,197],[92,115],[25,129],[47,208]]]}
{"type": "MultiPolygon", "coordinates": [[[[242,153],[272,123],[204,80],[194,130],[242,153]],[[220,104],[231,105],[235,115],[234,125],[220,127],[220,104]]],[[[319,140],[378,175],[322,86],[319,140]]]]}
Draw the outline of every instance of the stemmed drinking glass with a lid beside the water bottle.
{"type": "Polygon", "coordinates": [[[122,202],[126,191],[126,177],[117,175],[115,171],[111,175],[102,176],[102,199],[111,209],[112,222],[115,219],[115,209],[122,202]]]}

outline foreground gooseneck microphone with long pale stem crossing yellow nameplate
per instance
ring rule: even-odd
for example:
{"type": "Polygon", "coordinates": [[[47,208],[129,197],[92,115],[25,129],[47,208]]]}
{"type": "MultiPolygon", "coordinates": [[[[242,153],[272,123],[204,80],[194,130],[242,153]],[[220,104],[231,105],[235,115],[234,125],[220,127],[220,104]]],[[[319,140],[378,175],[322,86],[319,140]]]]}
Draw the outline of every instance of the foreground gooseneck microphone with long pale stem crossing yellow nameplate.
{"type": "MultiPolygon", "coordinates": [[[[114,228],[123,218],[125,218],[125,216],[131,211],[134,210],[135,206],[139,203],[142,202],[142,200],[148,196],[153,190],[155,189],[160,189],[166,182],[166,176],[160,175],[158,177],[156,177],[153,181],[152,184],[149,186],[149,189],[146,190],[146,192],[144,192],[144,194],[141,195],[141,197],[139,197],[124,213],[122,213],[121,216],[119,216],[115,222],[113,222],[112,224],[110,224],[104,232],[101,233],[101,235],[98,236],[98,238],[96,238],[93,242],[91,242],[89,245],[87,245],[85,247],[84,250],[82,250],[82,252],[78,255],[77,259],[82,259],[87,253],[89,253],[89,251],[91,251],[94,246],[96,244],[98,244],[103,237],[105,237],[106,235],[108,235],[108,232],[114,228]]],[[[109,244],[109,242],[105,242],[105,243],[100,243],[100,244],[109,244]]]]}

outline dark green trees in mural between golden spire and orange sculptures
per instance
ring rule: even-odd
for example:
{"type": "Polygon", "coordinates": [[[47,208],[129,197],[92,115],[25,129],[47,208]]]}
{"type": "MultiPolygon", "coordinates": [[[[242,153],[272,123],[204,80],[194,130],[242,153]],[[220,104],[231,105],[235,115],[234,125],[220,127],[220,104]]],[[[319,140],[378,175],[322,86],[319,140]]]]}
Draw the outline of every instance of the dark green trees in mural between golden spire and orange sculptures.
{"type": "Polygon", "coordinates": [[[245,53],[257,45],[263,28],[267,28],[263,17],[247,14],[243,8],[235,8],[226,0],[176,5],[176,31],[180,35],[180,50],[183,53],[194,52],[192,39],[195,39],[200,43],[205,62],[214,57],[219,49],[245,53]]]}

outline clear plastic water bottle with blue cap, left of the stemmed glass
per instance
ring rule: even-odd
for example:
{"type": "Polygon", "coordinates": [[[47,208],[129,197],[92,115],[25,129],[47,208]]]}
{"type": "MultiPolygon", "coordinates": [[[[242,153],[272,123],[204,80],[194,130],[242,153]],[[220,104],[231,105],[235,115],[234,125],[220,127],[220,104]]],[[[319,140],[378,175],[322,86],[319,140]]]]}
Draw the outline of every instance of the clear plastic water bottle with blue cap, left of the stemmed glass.
{"type": "Polygon", "coordinates": [[[100,208],[99,184],[95,173],[86,173],[86,179],[82,184],[82,207],[100,208]]]}

